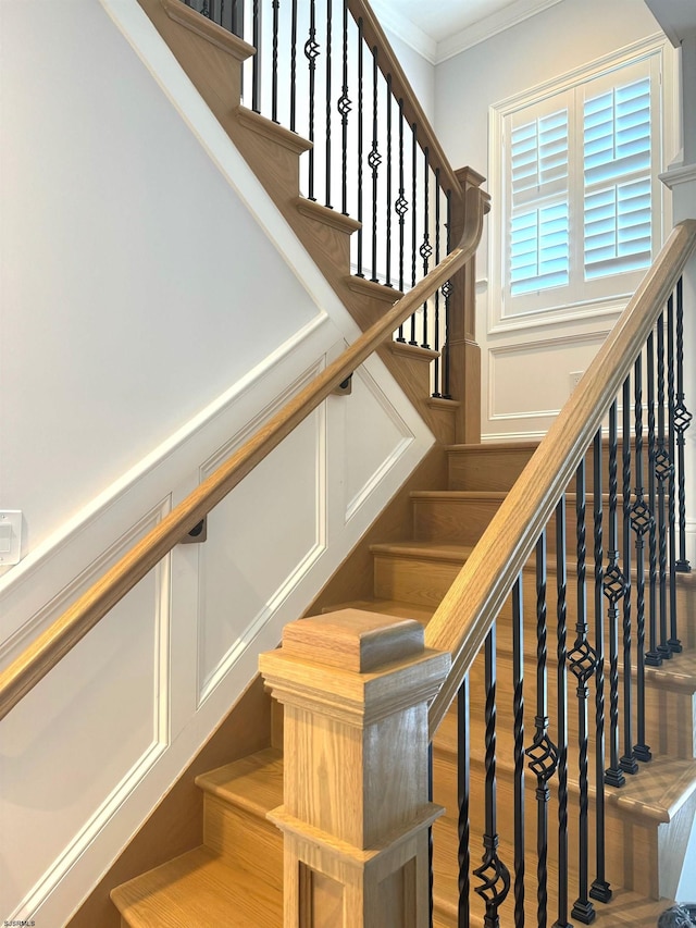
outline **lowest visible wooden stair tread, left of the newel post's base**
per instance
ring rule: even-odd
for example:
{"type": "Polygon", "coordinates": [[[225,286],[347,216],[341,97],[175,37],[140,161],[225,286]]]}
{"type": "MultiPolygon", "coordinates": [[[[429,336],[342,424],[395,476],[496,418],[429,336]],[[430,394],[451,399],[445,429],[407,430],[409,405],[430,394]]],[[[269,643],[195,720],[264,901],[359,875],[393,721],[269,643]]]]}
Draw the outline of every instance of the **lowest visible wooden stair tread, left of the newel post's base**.
{"type": "Polygon", "coordinates": [[[203,846],[116,887],[111,899],[130,928],[279,928],[283,924],[279,892],[203,846]]]}

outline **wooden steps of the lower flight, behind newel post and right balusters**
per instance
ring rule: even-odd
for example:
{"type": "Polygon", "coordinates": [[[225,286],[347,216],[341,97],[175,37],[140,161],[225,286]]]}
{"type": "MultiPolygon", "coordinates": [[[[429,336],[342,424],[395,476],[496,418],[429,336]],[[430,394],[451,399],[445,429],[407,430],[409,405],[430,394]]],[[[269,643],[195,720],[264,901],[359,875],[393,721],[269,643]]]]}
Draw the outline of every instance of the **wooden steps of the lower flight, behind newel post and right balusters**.
{"type": "MultiPolygon", "coordinates": [[[[411,494],[412,528],[399,542],[372,545],[373,595],[349,604],[336,604],[417,618],[426,623],[449,587],[453,576],[475,544],[492,510],[497,508],[511,482],[533,450],[532,445],[450,446],[447,449],[448,480],[440,490],[411,494]]],[[[525,599],[534,598],[531,570],[525,599]],[[527,595],[529,594],[529,595],[527,595]]],[[[549,578],[549,585],[551,578],[549,578]]],[[[525,577],[525,586],[526,586],[525,577]]],[[[675,879],[681,866],[691,821],[696,808],[696,599],[689,574],[681,578],[682,615],[691,618],[684,653],[661,668],[648,668],[648,743],[654,759],[642,764],[637,776],[626,777],[621,789],[607,793],[607,878],[612,889],[608,905],[596,903],[598,925],[654,926],[667,907],[659,901],[662,886],[675,879]],[[668,723],[666,723],[666,721],[668,723]]],[[[571,599],[572,603],[572,599],[571,599]]],[[[527,603],[525,603],[525,606],[527,603]]],[[[512,642],[504,611],[497,622],[498,657],[498,815],[512,817],[512,642]]],[[[572,622],[573,616],[569,616],[572,622]]],[[[536,616],[526,609],[525,702],[534,706],[536,616]]],[[[552,649],[549,632],[549,652],[552,649]]],[[[554,665],[549,663],[549,676],[554,665]]],[[[471,833],[483,828],[484,698],[481,685],[483,658],[470,672],[471,702],[471,833]]],[[[576,739],[574,685],[569,684],[570,741],[576,739]]],[[[204,794],[204,843],[169,864],[114,889],[112,899],[122,925],[130,928],[175,928],[210,924],[265,928],[282,924],[281,832],[266,820],[266,813],[283,803],[282,712],[274,707],[272,746],[197,778],[204,794]]],[[[555,705],[549,705],[555,717],[555,705]]],[[[533,717],[533,712],[531,713],[533,717]]],[[[527,722],[527,725],[531,725],[527,722]]],[[[457,925],[457,708],[440,726],[434,751],[434,799],[447,809],[434,827],[434,924],[457,925]]],[[[525,743],[531,740],[526,735],[525,743]]],[[[591,769],[593,759],[591,757],[591,769]]],[[[576,775],[570,774],[571,808],[577,804],[576,775]]],[[[533,825],[536,820],[535,777],[525,775],[525,806],[529,827],[526,866],[526,917],[537,924],[536,862],[533,825]]],[[[591,805],[593,799],[591,794],[591,805]]],[[[549,819],[555,820],[551,800],[549,819]]],[[[571,822],[573,816],[571,815],[571,822]]],[[[476,839],[472,838],[473,841],[476,839]]],[[[570,899],[575,899],[577,846],[571,824],[570,899]]],[[[591,836],[591,847],[594,836],[591,836]]],[[[471,849],[477,862],[480,851],[471,849]]],[[[500,857],[511,866],[513,849],[501,841],[500,857]]],[[[593,854],[591,852],[591,862],[593,854]]],[[[476,866],[473,864],[472,866],[476,866]]],[[[591,864],[592,866],[592,864],[591,864]]],[[[550,842],[548,857],[548,913],[554,919],[557,858],[550,842]]],[[[472,880],[472,924],[483,925],[483,907],[472,880]]],[[[501,924],[512,925],[512,893],[500,910],[501,924]]],[[[576,923],[574,923],[576,924],[576,923]]]]}

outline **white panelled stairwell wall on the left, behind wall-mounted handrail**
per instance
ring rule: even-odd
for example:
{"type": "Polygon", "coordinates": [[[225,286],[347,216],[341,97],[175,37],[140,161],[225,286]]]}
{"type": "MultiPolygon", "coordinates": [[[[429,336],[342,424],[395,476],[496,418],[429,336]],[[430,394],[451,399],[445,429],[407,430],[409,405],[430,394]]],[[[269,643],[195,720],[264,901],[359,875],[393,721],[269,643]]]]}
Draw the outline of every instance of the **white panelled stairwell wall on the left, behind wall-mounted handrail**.
{"type": "MultiPolygon", "coordinates": [[[[4,667],[357,326],[136,0],[2,2],[0,36],[4,667]]],[[[422,458],[383,364],[355,381],[0,723],[0,919],[65,924],[422,458]]]]}

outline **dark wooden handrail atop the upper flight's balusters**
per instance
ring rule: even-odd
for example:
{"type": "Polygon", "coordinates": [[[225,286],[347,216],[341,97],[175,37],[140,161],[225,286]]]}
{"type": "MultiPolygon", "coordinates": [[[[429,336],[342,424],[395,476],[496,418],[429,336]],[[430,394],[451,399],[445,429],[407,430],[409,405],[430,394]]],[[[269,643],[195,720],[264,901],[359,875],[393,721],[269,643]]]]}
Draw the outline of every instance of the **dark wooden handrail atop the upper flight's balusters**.
{"type": "Polygon", "coordinates": [[[391,94],[397,100],[403,100],[403,115],[409,125],[417,124],[419,145],[423,149],[427,148],[430,165],[433,171],[439,169],[440,185],[444,190],[451,190],[455,200],[452,208],[456,210],[463,202],[464,194],[461,184],[423,112],[413,88],[409,84],[394,49],[380,25],[380,21],[365,0],[348,0],[348,10],[356,22],[362,20],[362,35],[368,46],[371,49],[377,48],[377,67],[385,77],[390,75],[391,94]]]}

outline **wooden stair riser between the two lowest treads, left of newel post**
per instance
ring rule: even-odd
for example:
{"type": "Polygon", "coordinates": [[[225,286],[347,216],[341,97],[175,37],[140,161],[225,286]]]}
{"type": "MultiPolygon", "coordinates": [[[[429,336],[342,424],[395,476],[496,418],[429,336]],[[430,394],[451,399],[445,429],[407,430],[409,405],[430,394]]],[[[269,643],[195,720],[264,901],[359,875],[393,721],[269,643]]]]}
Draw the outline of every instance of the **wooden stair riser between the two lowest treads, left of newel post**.
{"type": "Polygon", "coordinates": [[[283,836],[266,819],[206,794],[203,841],[224,859],[244,867],[256,880],[283,890],[283,836]]]}

